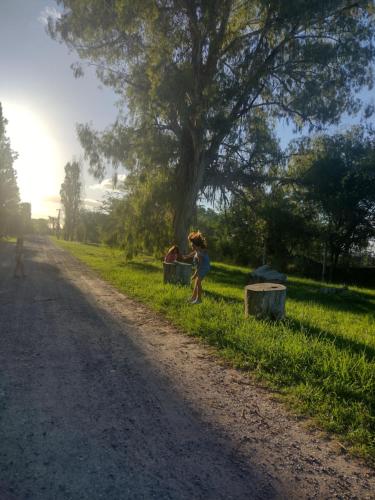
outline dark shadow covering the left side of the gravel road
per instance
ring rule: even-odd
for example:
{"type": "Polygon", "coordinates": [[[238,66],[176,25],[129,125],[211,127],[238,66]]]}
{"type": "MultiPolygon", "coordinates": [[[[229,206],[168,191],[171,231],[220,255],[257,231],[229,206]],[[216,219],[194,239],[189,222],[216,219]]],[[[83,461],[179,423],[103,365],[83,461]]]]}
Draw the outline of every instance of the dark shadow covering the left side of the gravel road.
{"type": "MultiPolygon", "coordinates": [[[[15,498],[280,498],[44,239],[0,246],[0,473],[15,498]],[[75,281],[76,280],[76,281],[75,281]]],[[[73,263],[73,264],[72,264],[73,263]]],[[[199,388],[197,388],[199,390],[199,388]]]]}

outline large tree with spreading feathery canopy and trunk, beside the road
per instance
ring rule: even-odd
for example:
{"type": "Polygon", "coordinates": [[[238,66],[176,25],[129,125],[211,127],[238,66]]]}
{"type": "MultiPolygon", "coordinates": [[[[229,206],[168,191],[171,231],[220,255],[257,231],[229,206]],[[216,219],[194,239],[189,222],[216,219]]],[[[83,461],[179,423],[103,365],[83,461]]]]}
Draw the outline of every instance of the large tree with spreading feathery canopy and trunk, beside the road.
{"type": "MultiPolygon", "coordinates": [[[[52,36],[126,105],[113,127],[79,127],[91,170],[162,171],[184,244],[196,201],[271,161],[274,120],[297,127],[356,112],[372,84],[371,1],[57,0],[52,36]]],[[[77,75],[82,73],[75,67],[77,75]]],[[[264,172],[262,172],[264,173],[264,172]]],[[[256,175],[255,175],[256,174],[256,175]]]]}

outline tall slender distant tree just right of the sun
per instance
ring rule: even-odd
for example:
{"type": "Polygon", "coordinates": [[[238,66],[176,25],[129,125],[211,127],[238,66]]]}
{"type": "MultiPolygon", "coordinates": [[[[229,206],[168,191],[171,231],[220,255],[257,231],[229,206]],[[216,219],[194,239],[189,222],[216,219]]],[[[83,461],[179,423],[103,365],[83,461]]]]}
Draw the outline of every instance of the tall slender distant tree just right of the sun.
{"type": "Polygon", "coordinates": [[[79,221],[82,184],[80,180],[81,166],[72,161],[65,165],[65,178],[61,184],[60,197],[64,210],[64,239],[73,240],[79,221]]]}

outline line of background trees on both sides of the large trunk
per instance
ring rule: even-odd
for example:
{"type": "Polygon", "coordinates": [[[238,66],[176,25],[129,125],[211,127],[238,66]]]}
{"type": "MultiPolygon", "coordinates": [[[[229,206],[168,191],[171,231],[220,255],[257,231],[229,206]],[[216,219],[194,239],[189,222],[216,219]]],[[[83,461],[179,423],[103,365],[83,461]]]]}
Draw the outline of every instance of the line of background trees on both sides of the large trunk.
{"type": "MultiPolygon", "coordinates": [[[[198,205],[194,226],[207,234],[212,257],[326,280],[345,276],[337,268],[374,265],[375,253],[371,259],[367,252],[375,239],[374,140],[363,127],[302,139],[290,146],[286,166],[274,168],[273,181],[241,190],[215,210],[198,205]]],[[[67,164],[62,185],[66,239],[121,247],[128,258],[140,252],[160,257],[173,242],[173,213],[163,192],[156,196],[147,182],[127,179],[122,194],[109,193],[99,210],[89,211],[79,197],[66,205],[73,179],[71,195],[80,187],[77,162],[67,164]]]]}

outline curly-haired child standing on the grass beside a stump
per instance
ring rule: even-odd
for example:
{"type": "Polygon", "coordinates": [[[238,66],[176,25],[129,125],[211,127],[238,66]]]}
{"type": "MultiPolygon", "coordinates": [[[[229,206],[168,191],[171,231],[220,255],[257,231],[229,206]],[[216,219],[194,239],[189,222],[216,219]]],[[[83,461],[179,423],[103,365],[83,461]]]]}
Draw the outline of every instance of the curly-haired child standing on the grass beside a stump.
{"type": "Polygon", "coordinates": [[[202,280],[210,270],[210,259],[207,253],[207,243],[203,234],[195,231],[189,234],[188,240],[193,252],[188,257],[193,257],[193,262],[197,269],[192,276],[195,280],[193,295],[190,299],[191,304],[200,304],[202,302],[202,280]]]}

